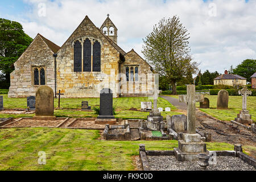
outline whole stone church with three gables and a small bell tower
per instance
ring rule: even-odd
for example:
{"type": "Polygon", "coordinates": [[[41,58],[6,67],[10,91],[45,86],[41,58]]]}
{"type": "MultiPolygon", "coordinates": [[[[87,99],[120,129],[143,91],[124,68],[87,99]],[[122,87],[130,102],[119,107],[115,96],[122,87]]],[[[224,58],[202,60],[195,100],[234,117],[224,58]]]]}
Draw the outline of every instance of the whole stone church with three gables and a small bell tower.
{"type": "Polygon", "coordinates": [[[117,45],[117,27],[109,15],[100,28],[85,16],[59,47],[38,34],[14,63],[9,97],[35,96],[40,85],[64,98],[100,97],[110,88],[113,97],[148,96],[154,92],[152,67],[131,49],[117,45]]]}

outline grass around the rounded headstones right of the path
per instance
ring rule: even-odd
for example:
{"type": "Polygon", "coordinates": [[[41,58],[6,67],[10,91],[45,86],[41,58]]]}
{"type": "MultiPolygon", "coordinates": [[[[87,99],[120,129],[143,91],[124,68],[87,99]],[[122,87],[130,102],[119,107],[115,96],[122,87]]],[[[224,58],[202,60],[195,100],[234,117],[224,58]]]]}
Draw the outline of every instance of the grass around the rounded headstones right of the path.
{"type": "MultiPolygon", "coordinates": [[[[177,95],[166,95],[169,97],[179,98],[177,95]]],[[[217,108],[217,96],[205,95],[209,98],[210,109],[200,109],[201,111],[212,115],[215,118],[218,118],[222,121],[234,120],[239,114],[239,111],[242,110],[242,96],[229,96],[229,109],[228,110],[219,110],[217,108]]],[[[199,102],[196,102],[196,107],[199,107],[199,102]]],[[[250,111],[251,118],[256,120],[256,97],[249,96],[247,97],[247,110],[250,111]]]]}

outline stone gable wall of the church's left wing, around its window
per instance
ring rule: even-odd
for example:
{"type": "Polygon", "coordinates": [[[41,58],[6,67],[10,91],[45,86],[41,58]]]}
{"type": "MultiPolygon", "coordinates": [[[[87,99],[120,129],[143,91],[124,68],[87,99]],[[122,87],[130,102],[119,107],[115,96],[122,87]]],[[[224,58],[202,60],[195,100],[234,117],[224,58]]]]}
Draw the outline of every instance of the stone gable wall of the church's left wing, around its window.
{"type": "Polygon", "coordinates": [[[37,35],[22,56],[14,63],[15,70],[10,74],[11,86],[8,97],[35,96],[39,85],[34,85],[32,67],[46,68],[46,85],[54,90],[53,52],[37,35]]]}

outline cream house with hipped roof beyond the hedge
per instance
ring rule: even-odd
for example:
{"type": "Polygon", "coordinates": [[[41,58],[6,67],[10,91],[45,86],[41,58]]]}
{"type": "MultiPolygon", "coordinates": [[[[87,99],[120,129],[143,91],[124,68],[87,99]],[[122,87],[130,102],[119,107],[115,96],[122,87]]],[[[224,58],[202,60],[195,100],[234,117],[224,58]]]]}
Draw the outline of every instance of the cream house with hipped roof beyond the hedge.
{"type": "Polygon", "coordinates": [[[213,79],[214,85],[230,85],[230,86],[243,86],[246,85],[246,78],[239,76],[228,74],[228,71],[225,70],[224,75],[220,75],[213,79]]]}

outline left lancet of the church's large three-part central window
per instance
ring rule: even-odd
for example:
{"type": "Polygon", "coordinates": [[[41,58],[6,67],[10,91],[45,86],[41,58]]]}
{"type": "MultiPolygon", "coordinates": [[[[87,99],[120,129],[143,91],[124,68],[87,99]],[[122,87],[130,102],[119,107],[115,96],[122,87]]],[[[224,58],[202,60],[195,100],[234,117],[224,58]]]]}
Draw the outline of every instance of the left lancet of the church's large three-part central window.
{"type": "Polygon", "coordinates": [[[77,40],[74,44],[74,72],[82,71],[82,45],[77,40]]]}

